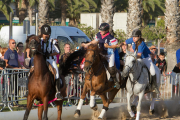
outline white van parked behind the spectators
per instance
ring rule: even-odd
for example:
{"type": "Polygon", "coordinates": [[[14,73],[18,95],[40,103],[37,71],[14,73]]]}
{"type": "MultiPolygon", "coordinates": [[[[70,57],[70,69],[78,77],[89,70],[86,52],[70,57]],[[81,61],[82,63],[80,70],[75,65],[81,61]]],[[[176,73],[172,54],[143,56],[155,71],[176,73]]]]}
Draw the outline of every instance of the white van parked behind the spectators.
{"type": "MultiPolygon", "coordinates": [[[[68,26],[51,26],[50,38],[57,38],[59,41],[70,42],[70,43],[81,43],[91,41],[86,34],[76,27],[68,26]]],[[[35,26],[30,26],[30,34],[35,34],[35,26]]],[[[26,34],[23,34],[23,26],[13,26],[12,38],[16,42],[26,41],[26,34]]],[[[9,26],[4,26],[0,30],[0,40],[8,43],[9,41],[9,26]]]]}

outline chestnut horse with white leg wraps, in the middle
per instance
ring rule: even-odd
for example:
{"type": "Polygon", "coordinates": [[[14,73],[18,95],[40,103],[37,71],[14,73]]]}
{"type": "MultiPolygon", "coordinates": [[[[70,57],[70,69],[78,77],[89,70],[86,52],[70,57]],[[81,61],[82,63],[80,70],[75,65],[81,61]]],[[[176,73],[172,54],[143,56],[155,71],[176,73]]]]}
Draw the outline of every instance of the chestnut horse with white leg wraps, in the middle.
{"type": "MultiPolygon", "coordinates": [[[[108,81],[103,61],[106,62],[106,59],[102,57],[102,55],[100,55],[98,45],[89,45],[85,53],[85,83],[81,99],[74,114],[75,118],[78,118],[80,116],[80,110],[83,105],[83,100],[86,97],[86,93],[88,91],[91,90],[90,107],[93,110],[97,110],[97,105],[94,99],[95,95],[99,95],[101,97],[103,101],[103,109],[98,118],[102,119],[105,112],[108,110],[109,104],[113,101],[115,95],[119,90],[114,88],[113,81],[108,81]],[[109,98],[107,98],[106,96],[107,92],[109,98]]],[[[118,72],[118,75],[116,76],[118,77],[119,83],[122,86],[120,72],[118,72]]]]}

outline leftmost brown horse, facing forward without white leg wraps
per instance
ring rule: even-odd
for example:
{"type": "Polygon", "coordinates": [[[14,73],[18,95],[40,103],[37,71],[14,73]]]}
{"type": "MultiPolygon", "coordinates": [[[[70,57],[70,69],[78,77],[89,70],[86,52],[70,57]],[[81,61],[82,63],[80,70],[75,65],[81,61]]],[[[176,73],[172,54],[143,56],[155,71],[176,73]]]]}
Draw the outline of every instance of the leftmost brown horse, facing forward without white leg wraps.
{"type": "MultiPolygon", "coordinates": [[[[53,72],[50,72],[46,64],[45,56],[41,50],[40,38],[38,36],[30,36],[26,40],[26,44],[28,44],[29,48],[34,53],[34,71],[29,76],[29,92],[24,120],[28,119],[34,99],[39,100],[40,104],[43,104],[42,106],[38,107],[38,119],[42,120],[42,113],[44,111],[43,120],[47,120],[48,101],[53,100],[56,93],[54,75],[53,72]]],[[[51,69],[53,68],[51,67],[51,69]]],[[[61,76],[61,79],[63,81],[61,94],[63,95],[63,97],[65,97],[65,80],[63,76],[61,76]]],[[[55,101],[55,103],[58,110],[58,120],[61,120],[63,100],[55,101]]]]}

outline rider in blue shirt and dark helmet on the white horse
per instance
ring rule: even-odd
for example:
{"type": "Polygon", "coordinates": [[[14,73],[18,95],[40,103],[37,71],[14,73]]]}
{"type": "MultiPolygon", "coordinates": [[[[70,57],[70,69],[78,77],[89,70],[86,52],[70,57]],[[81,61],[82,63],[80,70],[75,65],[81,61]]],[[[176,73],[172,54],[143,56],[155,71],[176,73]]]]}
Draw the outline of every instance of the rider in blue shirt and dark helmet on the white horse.
{"type": "Polygon", "coordinates": [[[150,50],[144,43],[144,39],[141,38],[141,31],[135,29],[132,32],[132,38],[127,39],[123,44],[131,44],[134,51],[137,51],[137,58],[142,59],[143,63],[147,66],[151,74],[151,89],[155,90],[157,94],[160,94],[157,82],[156,82],[156,73],[153,62],[150,57],[150,50]]]}

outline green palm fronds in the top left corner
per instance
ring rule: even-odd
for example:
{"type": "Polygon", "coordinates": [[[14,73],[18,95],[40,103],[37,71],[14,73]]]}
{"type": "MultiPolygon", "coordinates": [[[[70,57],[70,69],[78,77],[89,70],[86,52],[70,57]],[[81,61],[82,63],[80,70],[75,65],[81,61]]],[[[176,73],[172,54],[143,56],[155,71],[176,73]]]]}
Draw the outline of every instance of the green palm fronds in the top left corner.
{"type": "Polygon", "coordinates": [[[10,12],[13,12],[11,7],[9,6],[11,0],[2,0],[0,1],[0,11],[6,16],[6,19],[9,20],[10,12]]]}

